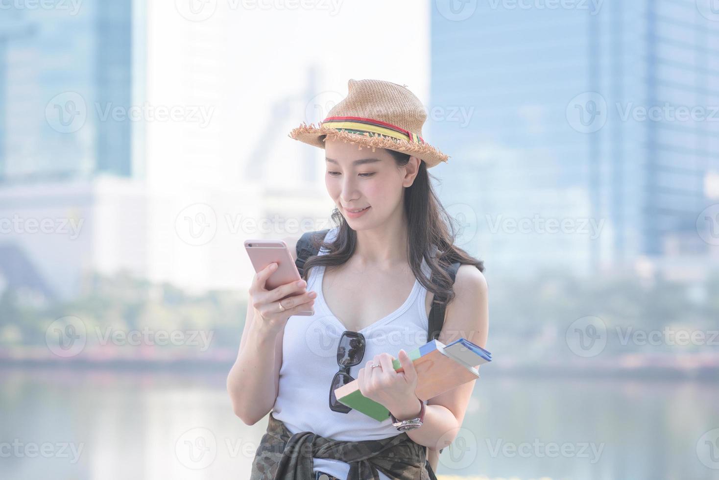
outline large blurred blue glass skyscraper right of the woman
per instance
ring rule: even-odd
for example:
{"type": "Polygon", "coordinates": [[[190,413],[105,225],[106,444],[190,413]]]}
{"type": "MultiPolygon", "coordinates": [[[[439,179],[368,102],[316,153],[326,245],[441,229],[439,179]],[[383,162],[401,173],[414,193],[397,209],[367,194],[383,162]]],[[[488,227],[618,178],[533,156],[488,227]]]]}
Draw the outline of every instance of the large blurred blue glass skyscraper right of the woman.
{"type": "Polygon", "coordinates": [[[719,14],[700,4],[437,2],[442,198],[471,207],[467,247],[490,269],[586,274],[716,249],[698,218],[719,201],[719,14]]]}

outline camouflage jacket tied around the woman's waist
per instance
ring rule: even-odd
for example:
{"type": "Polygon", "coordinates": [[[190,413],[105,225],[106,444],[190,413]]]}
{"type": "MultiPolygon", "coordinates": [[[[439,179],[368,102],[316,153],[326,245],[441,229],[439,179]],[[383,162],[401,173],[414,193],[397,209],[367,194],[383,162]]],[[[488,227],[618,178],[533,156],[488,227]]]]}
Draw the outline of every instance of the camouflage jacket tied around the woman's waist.
{"type": "Polygon", "coordinates": [[[250,480],[313,479],[313,458],[349,463],[347,480],[379,480],[377,471],[398,480],[436,480],[426,449],[402,432],[381,440],[341,441],[312,432],[294,435],[270,413],[252,462],[250,480]]]}

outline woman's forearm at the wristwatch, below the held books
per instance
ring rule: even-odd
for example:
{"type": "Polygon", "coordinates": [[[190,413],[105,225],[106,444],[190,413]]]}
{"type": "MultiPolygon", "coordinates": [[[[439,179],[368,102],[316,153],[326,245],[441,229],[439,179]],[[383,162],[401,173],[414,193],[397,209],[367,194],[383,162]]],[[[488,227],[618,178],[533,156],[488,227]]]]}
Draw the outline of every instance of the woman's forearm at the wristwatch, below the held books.
{"type": "MultiPolygon", "coordinates": [[[[390,412],[397,420],[416,418],[419,416],[421,404],[418,398],[415,397],[414,400],[404,407],[397,407],[396,413],[392,410],[390,412]]],[[[452,443],[459,426],[457,418],[448,408],[442,405],[425,405],[421,427],[407,430],[406,433],[416,443],[429,447],[431,450],[439,450],[452,443]]]]}

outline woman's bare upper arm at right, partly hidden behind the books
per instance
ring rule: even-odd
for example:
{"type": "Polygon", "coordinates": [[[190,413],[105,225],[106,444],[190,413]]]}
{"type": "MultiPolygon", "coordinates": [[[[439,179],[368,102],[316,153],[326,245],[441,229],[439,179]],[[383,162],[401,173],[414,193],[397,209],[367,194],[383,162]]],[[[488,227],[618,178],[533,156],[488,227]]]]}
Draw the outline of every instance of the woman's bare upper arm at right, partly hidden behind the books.
{"type": "MultiPolygon", "coordinates": [[[[454,294],[454,299],[446,307],[439,341],[446,345],[459,338],[466,338],[485,348],[489,331],[489,304],[485,276],[474,265],[461,265],[454,281],[454,294]]],[[[477,381],[472,380],[439,394],[431,398],[427,405],[446,407],[457,418],[457,424],[462,425],[475,382],[477,381]]]]}

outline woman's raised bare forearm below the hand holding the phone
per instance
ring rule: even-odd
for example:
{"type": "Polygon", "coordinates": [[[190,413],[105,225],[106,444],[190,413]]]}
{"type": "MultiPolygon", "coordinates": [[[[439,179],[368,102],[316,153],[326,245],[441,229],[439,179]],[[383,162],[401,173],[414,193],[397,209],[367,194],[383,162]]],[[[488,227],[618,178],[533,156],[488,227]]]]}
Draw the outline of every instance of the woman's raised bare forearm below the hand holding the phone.
{"type": "Polygon", "coordinates": [[[235,415],[252,425],[267,415],[277,399],[275,339],[278,332],[253,322],[227,376],[235,415]]]}

